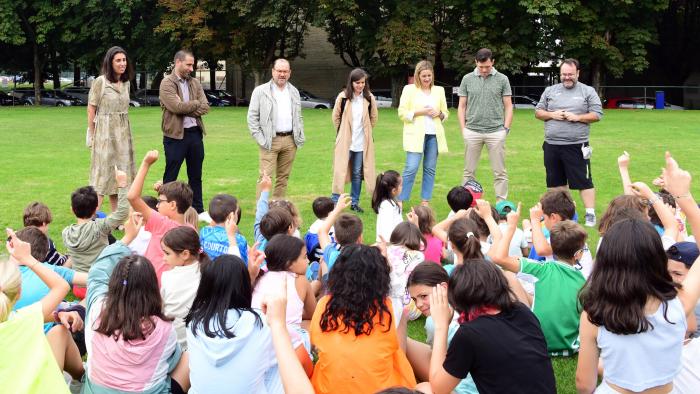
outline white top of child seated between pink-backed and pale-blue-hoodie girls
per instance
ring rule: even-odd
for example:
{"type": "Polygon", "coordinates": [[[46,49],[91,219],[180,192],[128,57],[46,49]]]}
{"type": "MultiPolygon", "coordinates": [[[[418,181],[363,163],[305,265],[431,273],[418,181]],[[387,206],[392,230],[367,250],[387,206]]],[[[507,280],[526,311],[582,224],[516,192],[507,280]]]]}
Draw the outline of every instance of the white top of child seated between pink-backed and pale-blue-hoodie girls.
{"type": "Polygon", "coordinates": [[[187,350],[185,316],[197,295],[201,277],[199,262],[173,267],[170,271],[163,272],[161,277],[160,295],[163,297],[163,314],[175,318],[173,327],[182,350],[187,350]]]}

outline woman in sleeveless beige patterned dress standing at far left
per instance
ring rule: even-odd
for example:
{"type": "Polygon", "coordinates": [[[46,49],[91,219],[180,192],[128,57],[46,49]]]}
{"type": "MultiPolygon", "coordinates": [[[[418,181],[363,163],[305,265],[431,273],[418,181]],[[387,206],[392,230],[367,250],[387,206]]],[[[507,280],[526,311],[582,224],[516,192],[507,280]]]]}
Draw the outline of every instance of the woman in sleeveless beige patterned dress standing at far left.
{"type": "Polygon", "coordinates": [[[115,166],[134,179],[134,146],[129,125],[129,81],[133,77],[126,51],[112,47],[102,62],[102,75],[92,83],[88,97],[88,136],[91,149],[90,186],[99,196],[109,196],[112,212],[117,209],[115,166]]]}

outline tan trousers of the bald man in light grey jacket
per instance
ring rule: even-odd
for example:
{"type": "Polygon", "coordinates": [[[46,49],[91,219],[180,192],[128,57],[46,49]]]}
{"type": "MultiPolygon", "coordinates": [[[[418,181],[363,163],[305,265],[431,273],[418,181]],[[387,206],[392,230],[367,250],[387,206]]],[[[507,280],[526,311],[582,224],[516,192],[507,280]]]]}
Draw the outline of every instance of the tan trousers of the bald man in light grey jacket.
{"type": "MultiPolygon", "coordinates": [[[[281,199],[287,193],[287,181],[292,173],[292,164],[297,154],[297,146],[294,137],[273,137],[270,150],[260,148],[259,179],[263,173],[274,176],[275,188],[272,192],[273,199],[281,199]]],[[[260,184],[258,183],[257,195],[260,196],[260,184]]]]}

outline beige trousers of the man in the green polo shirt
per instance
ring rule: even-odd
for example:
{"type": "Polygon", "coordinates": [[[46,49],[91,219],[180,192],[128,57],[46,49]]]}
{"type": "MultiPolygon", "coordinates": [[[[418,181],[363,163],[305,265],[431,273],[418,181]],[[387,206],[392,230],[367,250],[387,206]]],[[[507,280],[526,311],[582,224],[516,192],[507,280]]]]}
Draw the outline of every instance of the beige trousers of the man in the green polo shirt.
{"type": "Polygon", "coordinates": [[[464,177],[463,182],[474,178],[479,166],[481,150],[484,145],[489,151],[489,160],[493,170],[493,188],[497,200],[508,198],[508,172],[506,171],[506,136],[505,130],[494,133],[477,133],[469,129],[462,131],[464,138],[464,177]]]}

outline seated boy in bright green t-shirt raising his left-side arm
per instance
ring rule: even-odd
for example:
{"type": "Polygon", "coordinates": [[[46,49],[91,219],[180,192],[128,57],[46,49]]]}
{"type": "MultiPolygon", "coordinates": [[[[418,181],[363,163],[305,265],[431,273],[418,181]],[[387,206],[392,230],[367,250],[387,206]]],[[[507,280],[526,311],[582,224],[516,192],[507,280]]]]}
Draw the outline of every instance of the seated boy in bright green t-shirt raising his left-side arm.
{"type": "Polygon", "coordinates": [[[570,356],[578,351],[578,293],[586,278],[574,265],[583,254],[586,230],[578,223],[564,220],[551,229],[551,243],[556,260],[540,262],[520,255],[508,256],[513,234],[520,221],[518,209],[507,216],[508,228],[501,242],[494,244],[491,259],[504,269],[537,278],[533,312],[540,320],[551,356],[570,356]]]}

